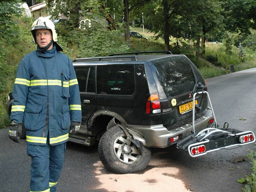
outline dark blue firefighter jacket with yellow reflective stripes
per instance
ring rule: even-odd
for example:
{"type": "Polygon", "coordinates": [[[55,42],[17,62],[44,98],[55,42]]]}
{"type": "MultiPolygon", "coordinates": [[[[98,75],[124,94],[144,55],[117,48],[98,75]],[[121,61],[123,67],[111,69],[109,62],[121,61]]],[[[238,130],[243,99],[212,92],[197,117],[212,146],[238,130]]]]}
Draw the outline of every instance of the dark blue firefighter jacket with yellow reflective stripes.
{"type": "Polygon", "coordinates": [[[70,121],[81,122],[74,67],[55,46],[22,58],[12,96],[11,120],[23,122],[28,144],[46,145],[48,133],[51,145],[67,142],[70,121]]]}

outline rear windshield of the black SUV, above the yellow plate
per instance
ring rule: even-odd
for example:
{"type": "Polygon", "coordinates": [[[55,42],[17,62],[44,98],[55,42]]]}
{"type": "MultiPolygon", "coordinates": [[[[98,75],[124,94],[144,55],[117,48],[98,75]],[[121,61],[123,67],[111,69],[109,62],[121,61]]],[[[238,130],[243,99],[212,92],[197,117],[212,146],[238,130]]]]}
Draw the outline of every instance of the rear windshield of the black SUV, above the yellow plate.
{"type": "Polygon", "coordinates": [[[196,80],[186,59],[163,61],[150,65],[160,99],[193,90],[196,80]]]}

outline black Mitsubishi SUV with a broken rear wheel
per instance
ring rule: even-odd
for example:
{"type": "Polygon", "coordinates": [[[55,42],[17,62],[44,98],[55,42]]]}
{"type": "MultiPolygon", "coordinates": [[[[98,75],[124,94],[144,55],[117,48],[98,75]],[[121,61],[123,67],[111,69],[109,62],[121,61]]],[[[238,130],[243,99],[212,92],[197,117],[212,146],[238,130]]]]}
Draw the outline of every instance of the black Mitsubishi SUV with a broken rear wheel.
{"type": "MultiPolygon", "coordinates": [[[[193,133],[192,94],[205,81],[185,55],[132,52],[73,60],[80,89],[82,125],[69,140],[98,143],[111,171],[138,172],[150,148],[166,148],[193,133]],[[200,85],[201,85],[200,84],[200,85]]],[[[196,96],[196,132],[213,123],[206,95],[196,96]]],[[[10,114],[12,96],[6,104],[10,114]]],[[[23,133],[23,137],[24,137],[23,133]]]]}

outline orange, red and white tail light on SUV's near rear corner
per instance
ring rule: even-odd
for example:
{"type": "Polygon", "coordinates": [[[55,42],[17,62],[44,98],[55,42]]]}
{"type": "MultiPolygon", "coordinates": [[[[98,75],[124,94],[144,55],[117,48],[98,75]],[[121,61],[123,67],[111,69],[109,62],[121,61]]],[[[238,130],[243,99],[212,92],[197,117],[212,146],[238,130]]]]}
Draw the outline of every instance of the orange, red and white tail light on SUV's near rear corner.
{"type": "Polygon", "coordinates": [[[159,100],[157,93],[151,94],[148,97],[148,101],[146,103],[146,113],[147,114],[161,113],[161,101],[159,100]]]}

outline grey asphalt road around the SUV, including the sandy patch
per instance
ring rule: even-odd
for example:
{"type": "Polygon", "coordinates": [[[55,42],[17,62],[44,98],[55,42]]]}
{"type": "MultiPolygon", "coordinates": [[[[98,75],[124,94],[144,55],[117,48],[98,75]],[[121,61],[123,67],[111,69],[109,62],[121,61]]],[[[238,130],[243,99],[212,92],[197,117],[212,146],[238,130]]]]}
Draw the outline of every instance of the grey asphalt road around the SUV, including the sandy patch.
{"type": "MultiPolygon", "coordinates": [[[[256,133],[255,76],[254,68],[207,79],[208,92],[220,126],[228,122],[232,128],[243,131],[252,130],[256,133]],[[239,118],[247,120],[241,121],[239,118]]],[[[21,140],[20,144],[16,144],[8,138],[7,132],[8,129],[0,130],[0,191],[29,191],[31,160],[27,156],[26,141],[21,140]]],[[[181,183],[186,190],[190,191],[238,192],[243,185],[236,180],[243,177],[246,172],[250,173],[251,165],[246,161],[230,163],[230,159],[233,156],[248,154],[247,149],[253,149],[253,147],[254,145],[246,145],[234,150],[220,150],[197,158],[192,158],[186,151],[175,147],[153,149],[150,164],[145,171],[121,175],[112,174],[99,165],[97,146],[84,147],[68,142],[63,171],[58,181],[58,191],[156,191],[157,182],[162,187],[166,185],[168,192],[180,191],[177,186],[171,184],[171,181],[174,181],[174,183],[181,183]],[[167,170],[171,169],[174,171],[167,174],[167,170]],[[158,177],[157,172],[162,170],[164,171],[161,175],[167,175],[169,180],[158,177]],[[140,177],[144,180],[139,180],[138,183],[132,180],[140,177]],[[145,183],[146,185],[142,185],[145,183]],[[150,189],[143,186],[149,186],[150,189]]]]}

